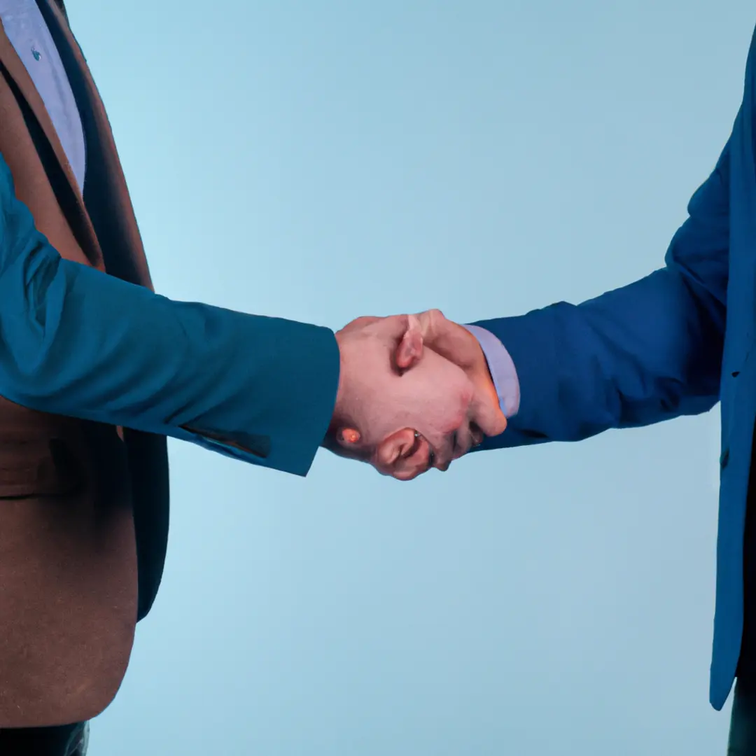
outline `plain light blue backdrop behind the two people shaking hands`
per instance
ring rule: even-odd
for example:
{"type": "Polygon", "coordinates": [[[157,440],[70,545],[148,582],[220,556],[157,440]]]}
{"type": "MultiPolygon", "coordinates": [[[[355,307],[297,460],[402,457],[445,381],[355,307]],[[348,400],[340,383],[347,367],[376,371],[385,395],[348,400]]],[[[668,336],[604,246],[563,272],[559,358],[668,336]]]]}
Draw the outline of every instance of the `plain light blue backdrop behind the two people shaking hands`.
{"type": "MultiPolygon", "coordinates": [[[[69,11],[160,291],[331,327],[658,267],[756,21],[746,0],[69,11]]],[[[172,444],[163,588],[91,752],[723,753],[717,444],[713,413],[407,485],[172,444]]]]}

